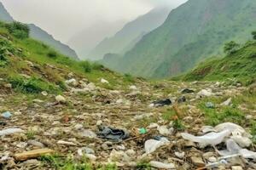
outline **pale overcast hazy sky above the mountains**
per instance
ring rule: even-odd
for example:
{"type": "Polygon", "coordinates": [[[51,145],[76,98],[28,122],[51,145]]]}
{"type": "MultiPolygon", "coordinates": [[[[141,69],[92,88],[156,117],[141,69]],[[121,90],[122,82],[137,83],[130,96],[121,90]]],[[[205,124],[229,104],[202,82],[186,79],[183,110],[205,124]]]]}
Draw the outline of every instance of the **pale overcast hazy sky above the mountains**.
{"type": "MultiPolygon", "coordinates": [[[[186,0],[0,0],[9,13],[24,23],[33,23],[62,42],[68,42],[76,32],[100,22],[123,24],[147,13],[151,8],[186,0]]],[[[114,31],[114,30],[113,30],[114,31]]],[[[113,33],[113,32],[111,32],[113,33]]]]}

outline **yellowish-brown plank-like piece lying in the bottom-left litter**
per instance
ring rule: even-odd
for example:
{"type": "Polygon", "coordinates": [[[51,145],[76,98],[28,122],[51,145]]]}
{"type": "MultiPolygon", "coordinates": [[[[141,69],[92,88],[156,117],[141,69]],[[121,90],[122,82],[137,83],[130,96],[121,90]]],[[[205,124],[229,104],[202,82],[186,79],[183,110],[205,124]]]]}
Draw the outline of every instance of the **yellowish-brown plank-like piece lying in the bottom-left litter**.
{"type": "Polygon", "coordinates": [[[39,156],[44,156],[47,154],[54,153],[54,150],[49,149],[39,149],[39,150],[30,150],[23,153],[15,154],[16,161],[26,161],[32,158],[37,158],[39,156]]]}

